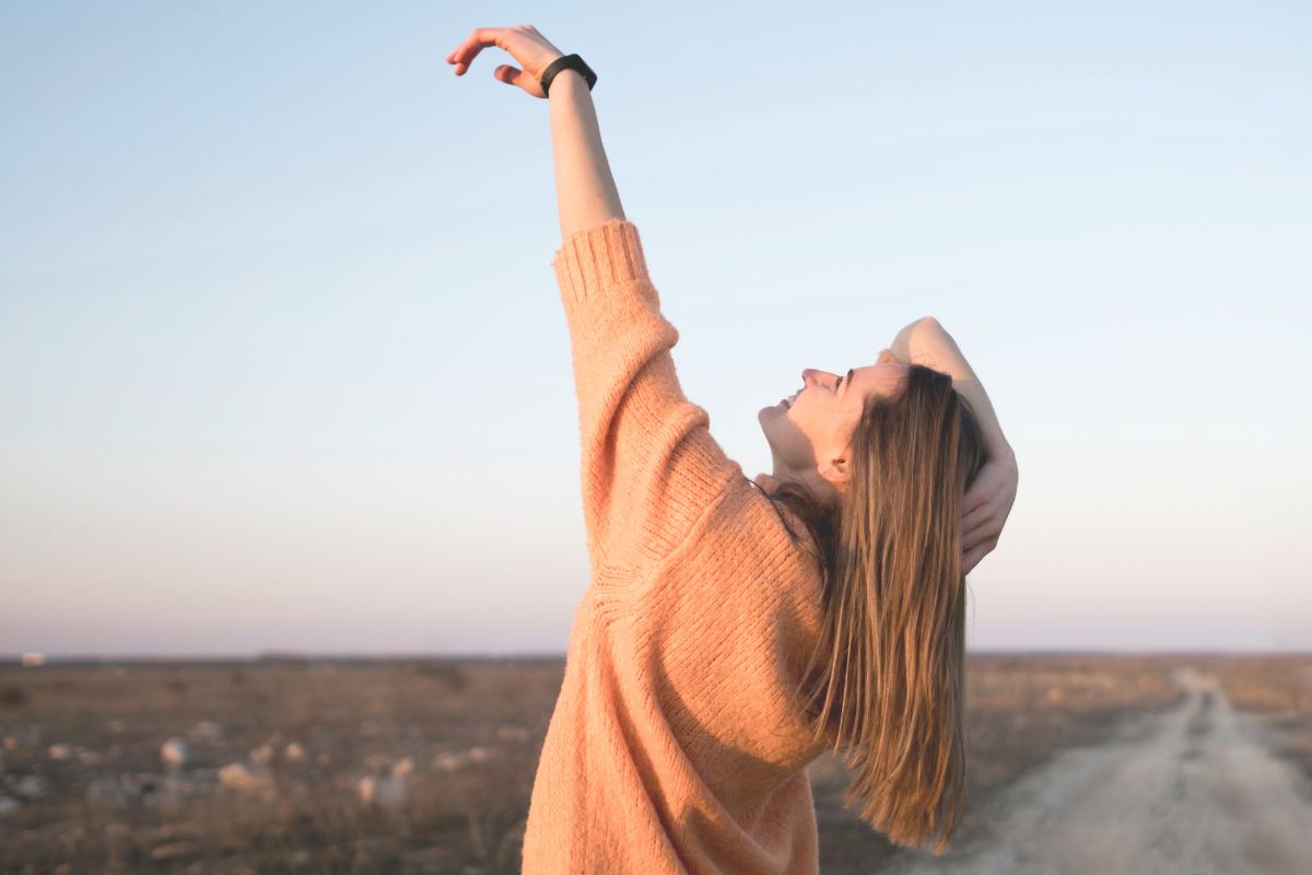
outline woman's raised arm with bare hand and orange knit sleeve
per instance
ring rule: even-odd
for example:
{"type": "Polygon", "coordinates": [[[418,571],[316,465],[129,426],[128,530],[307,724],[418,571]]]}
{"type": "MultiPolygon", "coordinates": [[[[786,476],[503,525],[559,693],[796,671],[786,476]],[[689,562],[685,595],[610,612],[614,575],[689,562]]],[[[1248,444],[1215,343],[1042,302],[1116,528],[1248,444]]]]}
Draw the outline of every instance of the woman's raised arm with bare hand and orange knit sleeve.
{"type": "Polygon", "coordinates": [[[502,64],[495,76],[551,104],[562,232],[551,266],[573,352],[593,581],[611,596],[682,544],[731,487],[749,487],[680,386],[670,356],[678,332],[619,205],[586,81],[562,71],[544,94],[542,72],[562,52],[530,26],[480,28],[447,60],[461,75],[492,45],[523,66],[502,64]]]}

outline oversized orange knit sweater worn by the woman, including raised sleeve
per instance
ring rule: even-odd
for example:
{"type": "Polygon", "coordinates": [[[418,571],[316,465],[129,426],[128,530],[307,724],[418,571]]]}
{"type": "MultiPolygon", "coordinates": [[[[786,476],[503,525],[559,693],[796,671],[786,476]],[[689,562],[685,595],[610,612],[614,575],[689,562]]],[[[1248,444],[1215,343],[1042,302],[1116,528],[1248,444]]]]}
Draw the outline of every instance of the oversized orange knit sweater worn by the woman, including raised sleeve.
{"type": "Polygon", "coordinates": [[[824,745],[789,701],[819,635],[817,569],[685,397],[670,357],[678,332],[638,228],[611,219],[579,231],[552,268],[573,353],[592,579],[522,871],[817,872],[806,766],[824,745]]]}

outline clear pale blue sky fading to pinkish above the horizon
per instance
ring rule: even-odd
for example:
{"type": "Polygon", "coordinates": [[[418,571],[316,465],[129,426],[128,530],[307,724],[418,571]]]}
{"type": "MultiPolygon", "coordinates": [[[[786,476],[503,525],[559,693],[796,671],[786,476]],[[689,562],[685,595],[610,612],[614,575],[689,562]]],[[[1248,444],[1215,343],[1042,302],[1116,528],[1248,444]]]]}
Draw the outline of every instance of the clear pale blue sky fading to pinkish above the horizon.
{"type": "Polygon", "coordinates": [[[1015,447],[968,644],[1312,647],[1303,3],[0,8],[0,653],[564,652],[548,105],[711,433],[933,315],[1015,447]],[[1063,7],[1057,9],[1056,7],[1063,7]]]}

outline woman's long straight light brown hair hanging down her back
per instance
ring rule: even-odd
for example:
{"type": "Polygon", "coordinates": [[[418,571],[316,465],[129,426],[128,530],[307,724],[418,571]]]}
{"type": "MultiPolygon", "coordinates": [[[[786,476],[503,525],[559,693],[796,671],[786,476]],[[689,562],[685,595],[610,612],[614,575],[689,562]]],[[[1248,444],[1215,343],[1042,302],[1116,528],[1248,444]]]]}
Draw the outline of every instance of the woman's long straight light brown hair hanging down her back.
{"type": "Polygon", "coordinates": [[[966,790],[960,513],[983,433],[950,375],[911,365],[903,391],[867,399],[849,450],[832,509],[799,483],[770,496],[806,525],[810,543],[789,530],[824,580],[796,704],[816,743],[846,748],[845,805],[896,845],[934,841],[937,855],[966,790]]]}

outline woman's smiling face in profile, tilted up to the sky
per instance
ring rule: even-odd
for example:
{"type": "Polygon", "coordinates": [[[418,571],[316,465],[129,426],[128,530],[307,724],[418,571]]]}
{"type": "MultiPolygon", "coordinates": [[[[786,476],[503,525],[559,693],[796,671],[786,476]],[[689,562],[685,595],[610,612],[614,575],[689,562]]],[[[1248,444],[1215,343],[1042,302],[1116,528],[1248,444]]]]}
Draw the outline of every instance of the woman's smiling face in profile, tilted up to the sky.
{"type": "Polygon", "coordinates": [[[907,365],[882,362],[844,374],[802,371],[802,388],[756,417],[774,457],[779,479],[840,485],[848,476],[846,446],[871,395],[895,395],[907,380],[907,365]]]}

